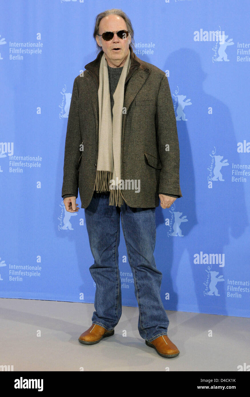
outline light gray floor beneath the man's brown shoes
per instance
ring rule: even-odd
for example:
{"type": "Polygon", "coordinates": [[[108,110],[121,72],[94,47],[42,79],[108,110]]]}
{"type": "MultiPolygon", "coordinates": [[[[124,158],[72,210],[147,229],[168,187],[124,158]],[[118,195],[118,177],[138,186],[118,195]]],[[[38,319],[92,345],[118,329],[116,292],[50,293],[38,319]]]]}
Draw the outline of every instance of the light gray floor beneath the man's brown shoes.
{"type": "Polygon", "coordinates": [[[249,318],[167,311],[168,336],[180,350],[167,359],[145,345],[138,308],[126,306],[113,336],[81,345],[93,310],[90,303],[1,298],[0,365],[14,371],[238,371],[250,364],[249,318]]]}

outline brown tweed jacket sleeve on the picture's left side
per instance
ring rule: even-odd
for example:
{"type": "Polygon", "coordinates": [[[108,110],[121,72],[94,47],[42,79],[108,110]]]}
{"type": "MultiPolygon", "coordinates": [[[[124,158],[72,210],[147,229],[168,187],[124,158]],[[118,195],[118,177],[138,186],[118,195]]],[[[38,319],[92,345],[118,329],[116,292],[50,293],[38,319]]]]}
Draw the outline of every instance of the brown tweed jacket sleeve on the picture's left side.
{"type": "Polygon", "coordinates": [[[65,140],[62,197],[65,195],[78,197],[78,168],[79,158],[81,156],[79,145],[82,140],[79,123],[79,94],[76,79],[73,84],[65,140]]]}

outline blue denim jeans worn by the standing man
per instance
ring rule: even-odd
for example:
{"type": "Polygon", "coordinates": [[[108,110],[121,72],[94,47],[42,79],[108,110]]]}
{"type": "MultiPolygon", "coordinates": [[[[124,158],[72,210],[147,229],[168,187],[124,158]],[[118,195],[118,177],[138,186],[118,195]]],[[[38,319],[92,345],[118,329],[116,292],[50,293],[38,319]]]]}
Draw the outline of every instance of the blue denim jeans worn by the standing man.
{"type": "Polygon", "coordinates": [[[89,268],[96,283],[92,323],[113,330],[122,315],[122,294],[118,268],[120,216],[128,261],[134,276],[139,308],[138,330],[153,341],[167,335],[169,319],[160,297],[162,273],[157,270],[155,250],[155,208],[119,208],[109,205],[109,193],[94,193],[85,208],[85,220],[94,264],[89,268]]]}

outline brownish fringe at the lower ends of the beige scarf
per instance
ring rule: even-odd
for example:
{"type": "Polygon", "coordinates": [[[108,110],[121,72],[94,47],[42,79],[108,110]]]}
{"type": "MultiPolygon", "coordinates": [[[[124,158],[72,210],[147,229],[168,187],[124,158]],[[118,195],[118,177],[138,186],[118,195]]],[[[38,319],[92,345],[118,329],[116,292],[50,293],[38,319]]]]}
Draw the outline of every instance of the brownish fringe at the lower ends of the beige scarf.
{"type": "Polygon", "coordinates": [[[122,198],[120,189],[110,189],[110,180],[112,179],[111,171],[97,170],[95,179],[95,191],[97,193],[110,192],[109,205],[120,207],[124,200],[122,198]]]}

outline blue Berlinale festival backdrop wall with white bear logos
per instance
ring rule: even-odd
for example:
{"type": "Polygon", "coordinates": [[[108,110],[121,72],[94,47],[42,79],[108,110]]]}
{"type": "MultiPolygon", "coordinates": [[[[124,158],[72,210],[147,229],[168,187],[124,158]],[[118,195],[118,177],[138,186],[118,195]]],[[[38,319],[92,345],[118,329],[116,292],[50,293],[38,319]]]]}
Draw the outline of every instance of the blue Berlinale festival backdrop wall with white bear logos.
{"type": "MultiPolygon", "coordinates": [[[[176,114],[183,197],[156,209],[165,309],[249,317],[247,0],[1,0],[0,296],[94,302],[84,210],[65,214],[61,189],[73,82],[109,8],[165,71],[176,114]]],[[[119,268],[122,304],[137,306],[122,233],[119,268]]]]}

